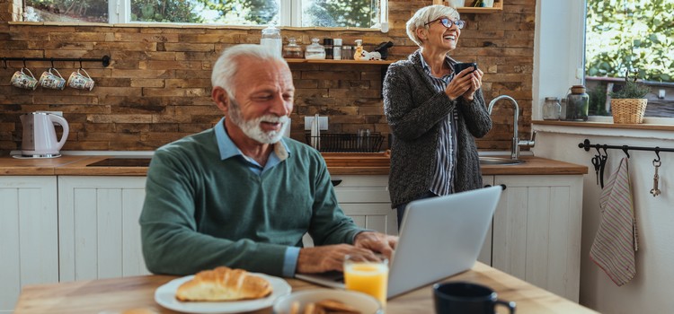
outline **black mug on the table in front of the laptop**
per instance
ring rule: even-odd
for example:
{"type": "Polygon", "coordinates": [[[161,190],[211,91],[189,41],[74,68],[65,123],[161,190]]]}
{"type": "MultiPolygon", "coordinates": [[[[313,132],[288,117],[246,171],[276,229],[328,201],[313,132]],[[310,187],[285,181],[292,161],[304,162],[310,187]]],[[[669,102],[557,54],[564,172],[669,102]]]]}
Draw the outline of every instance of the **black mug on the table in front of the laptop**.
{"type": "Polygon", "coordinates": [[[515,313],[515,302],[501,301],[492,289],[476,283],[436,283],[433,302],[436,314],[492,314],[497,305],[510,309],[510,314],[515,313]]]}

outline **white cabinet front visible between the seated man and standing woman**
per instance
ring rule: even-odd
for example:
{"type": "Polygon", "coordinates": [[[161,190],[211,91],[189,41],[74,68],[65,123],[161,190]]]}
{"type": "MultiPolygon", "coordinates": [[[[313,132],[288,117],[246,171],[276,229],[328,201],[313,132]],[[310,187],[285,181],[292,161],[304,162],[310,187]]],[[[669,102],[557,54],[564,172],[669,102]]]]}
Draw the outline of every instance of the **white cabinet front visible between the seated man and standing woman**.
{"type": "Polygon", "coordinates": [[[398,234],[398,218],[391,208],[387,175],[334,175],[334,193],[344,213],[361,228],[398,234]]]}

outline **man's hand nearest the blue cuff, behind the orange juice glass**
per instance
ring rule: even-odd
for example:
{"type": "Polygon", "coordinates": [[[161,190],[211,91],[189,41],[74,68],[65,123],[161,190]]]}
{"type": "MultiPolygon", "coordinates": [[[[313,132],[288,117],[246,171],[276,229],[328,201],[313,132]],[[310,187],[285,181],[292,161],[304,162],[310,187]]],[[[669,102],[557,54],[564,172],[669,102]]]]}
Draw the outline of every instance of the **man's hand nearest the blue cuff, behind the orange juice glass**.
{"type": "Polygon", "coordinates": [[[350,244],[304,248],[299,249],[296,272],[298,274],[313,274],[324,273],[331,270],[342,271],[344,257],[347,255],[363,260],[379,260],[379,257],[377,257],[372,250],[357,248],[350,244]]]}

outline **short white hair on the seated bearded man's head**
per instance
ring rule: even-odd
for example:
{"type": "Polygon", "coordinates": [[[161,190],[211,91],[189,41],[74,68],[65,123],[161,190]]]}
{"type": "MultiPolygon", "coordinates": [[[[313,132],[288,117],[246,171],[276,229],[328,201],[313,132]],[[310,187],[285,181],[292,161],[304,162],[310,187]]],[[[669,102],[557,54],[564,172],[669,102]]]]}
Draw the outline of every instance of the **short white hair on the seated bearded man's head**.
{"type": "Polygon", "coordinates": [[[213,87],[222,87],[230,98],[235,96],[235,75],[242,57],[253,57],[260,61],[279,61],[288,65],[284,58],[261,45],[245,44],[226,48],[213,65],[210,83],[213,87]]]}

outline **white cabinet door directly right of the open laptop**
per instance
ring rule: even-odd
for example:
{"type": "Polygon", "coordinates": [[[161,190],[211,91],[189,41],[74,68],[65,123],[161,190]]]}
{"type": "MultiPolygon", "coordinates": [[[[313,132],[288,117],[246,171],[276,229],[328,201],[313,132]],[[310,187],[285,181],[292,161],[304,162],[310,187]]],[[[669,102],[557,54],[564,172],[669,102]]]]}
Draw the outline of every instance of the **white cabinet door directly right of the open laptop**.
{"type": "Polygon", "coordinates": [[[578,301],[582,176],[495,176],[492,266],[578,301]]]}

